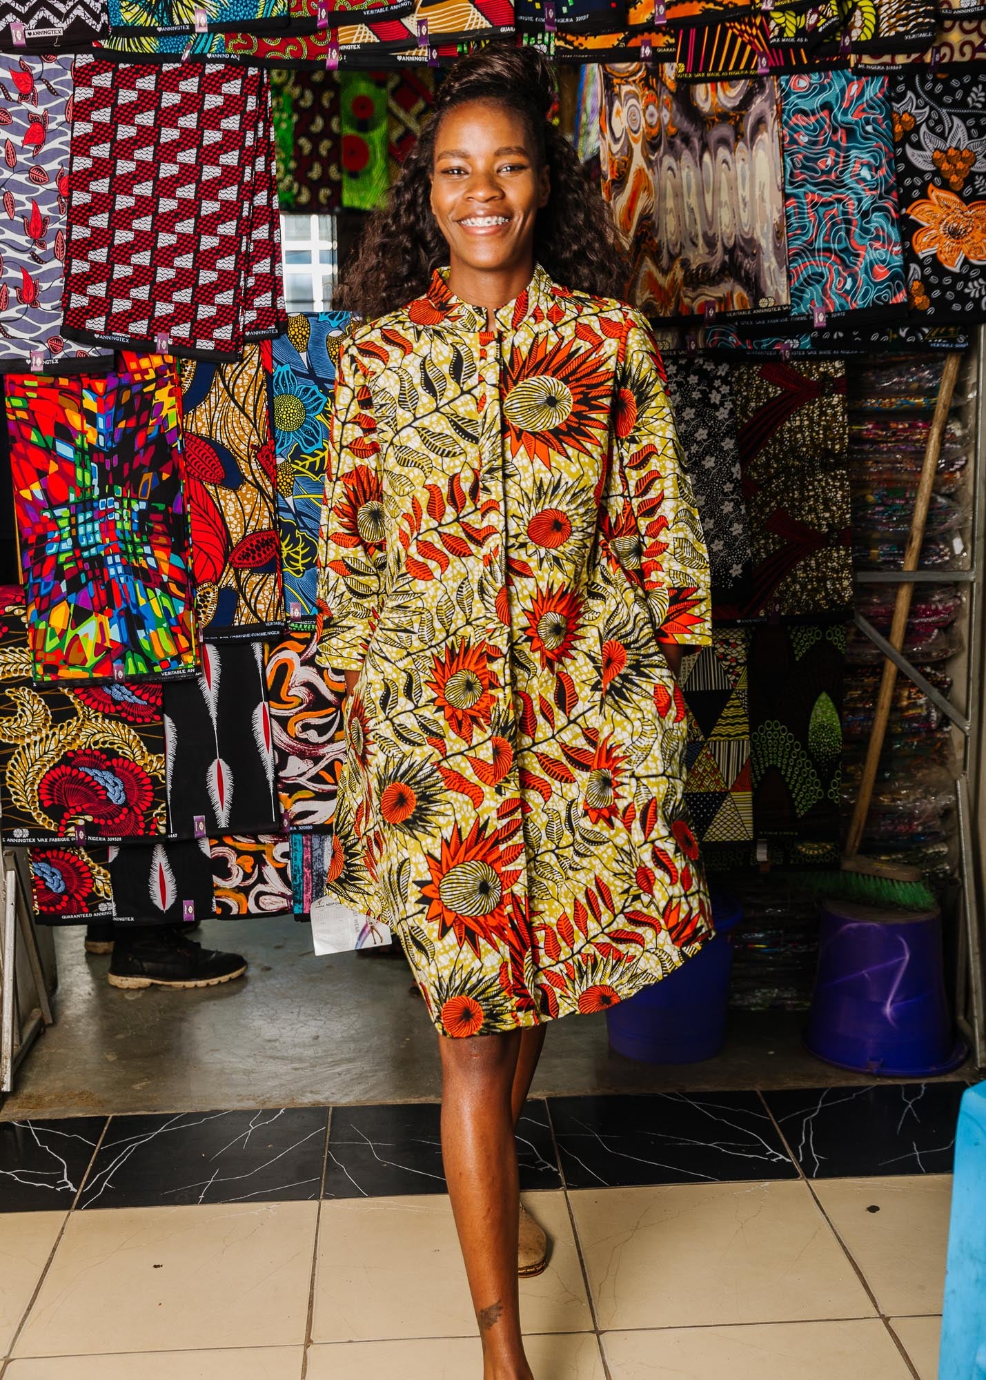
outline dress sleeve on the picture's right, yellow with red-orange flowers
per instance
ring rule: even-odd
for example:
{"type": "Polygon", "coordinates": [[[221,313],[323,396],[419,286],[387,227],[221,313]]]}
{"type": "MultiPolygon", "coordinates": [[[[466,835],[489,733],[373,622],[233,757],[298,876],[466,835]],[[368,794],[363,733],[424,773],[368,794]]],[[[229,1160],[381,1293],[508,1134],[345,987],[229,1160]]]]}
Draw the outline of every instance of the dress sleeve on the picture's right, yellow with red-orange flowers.
{"type": "Polygon", "coordinates": [[[708,646],[708,553],[664,389],[664,366],[637,313],[617,366],[602,531],[630,582],[642,591],[657,640],[708,646]]]}

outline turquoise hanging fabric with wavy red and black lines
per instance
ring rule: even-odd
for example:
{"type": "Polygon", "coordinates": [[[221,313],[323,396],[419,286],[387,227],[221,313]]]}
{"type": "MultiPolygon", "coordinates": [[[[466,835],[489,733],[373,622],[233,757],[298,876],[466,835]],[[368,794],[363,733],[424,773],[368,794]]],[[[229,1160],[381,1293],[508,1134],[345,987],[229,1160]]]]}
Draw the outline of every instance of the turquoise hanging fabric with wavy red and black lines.
{"type": "Polygon", "coordinates": [[[791,315],[824,327],[903,313],[887,77],[780,77],[791,315]]]}

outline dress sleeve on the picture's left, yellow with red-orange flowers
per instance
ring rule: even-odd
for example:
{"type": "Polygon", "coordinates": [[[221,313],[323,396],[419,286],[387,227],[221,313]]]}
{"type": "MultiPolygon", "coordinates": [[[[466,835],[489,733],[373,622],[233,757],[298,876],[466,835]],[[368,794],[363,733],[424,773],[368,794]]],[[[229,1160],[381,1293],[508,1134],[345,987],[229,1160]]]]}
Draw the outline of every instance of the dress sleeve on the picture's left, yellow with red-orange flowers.
{"type": "Polygon", "coordinates": [[[376,627],[387,571],[380,443],[373,397],[347,341],[336,371],[318,551],[316,662],[359,671],[376,627]]]}

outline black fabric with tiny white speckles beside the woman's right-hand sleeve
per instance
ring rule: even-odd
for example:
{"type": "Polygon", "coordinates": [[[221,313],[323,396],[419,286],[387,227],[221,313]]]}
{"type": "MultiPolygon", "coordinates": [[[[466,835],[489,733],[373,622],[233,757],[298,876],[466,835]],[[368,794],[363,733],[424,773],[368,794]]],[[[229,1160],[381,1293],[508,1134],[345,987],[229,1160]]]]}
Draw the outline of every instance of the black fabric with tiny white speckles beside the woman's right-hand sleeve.
{"type": "Polygon", "coordinates": [[[736,446],[731,366],[711,359],[664,359],[678,442],[699,505],[713,598],[736,598],[750,580],[750,531],[736,446]]]}

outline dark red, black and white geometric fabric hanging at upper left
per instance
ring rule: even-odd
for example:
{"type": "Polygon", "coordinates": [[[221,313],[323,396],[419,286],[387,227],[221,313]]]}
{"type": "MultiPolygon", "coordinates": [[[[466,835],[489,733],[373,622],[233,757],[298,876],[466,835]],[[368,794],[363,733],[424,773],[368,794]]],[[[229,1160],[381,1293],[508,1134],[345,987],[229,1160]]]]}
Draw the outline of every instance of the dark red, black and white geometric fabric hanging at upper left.
{"type": "Polygon", "coordinates": [[[75,81],[65,331],[220,360],[280,334],[267,75],[86,54],[75,81]]]}

